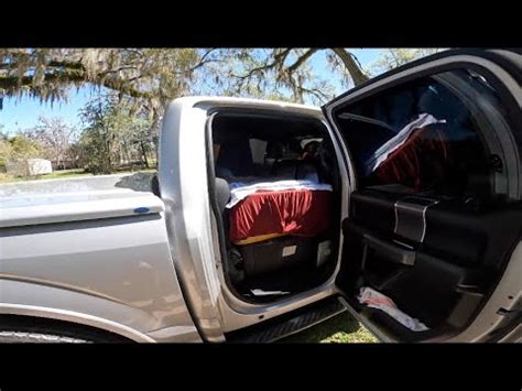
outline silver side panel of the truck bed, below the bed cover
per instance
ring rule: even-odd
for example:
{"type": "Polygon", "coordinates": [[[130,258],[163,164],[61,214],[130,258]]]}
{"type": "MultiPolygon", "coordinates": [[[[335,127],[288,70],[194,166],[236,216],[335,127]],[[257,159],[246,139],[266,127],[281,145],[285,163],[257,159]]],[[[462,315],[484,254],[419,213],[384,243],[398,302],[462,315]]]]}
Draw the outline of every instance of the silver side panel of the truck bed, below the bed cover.
{"type": "Polygon", "coordinates": [[[163,213],[0,229],[0,313],[77,322],[140,341],[200,340],[163,213]]]}

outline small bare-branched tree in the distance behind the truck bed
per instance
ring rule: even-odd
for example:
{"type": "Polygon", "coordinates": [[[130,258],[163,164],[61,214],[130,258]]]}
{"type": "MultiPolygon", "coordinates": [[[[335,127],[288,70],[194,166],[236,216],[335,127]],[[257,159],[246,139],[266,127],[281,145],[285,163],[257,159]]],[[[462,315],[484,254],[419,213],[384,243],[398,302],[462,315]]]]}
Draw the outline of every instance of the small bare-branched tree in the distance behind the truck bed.
{"type": "Polygon", "coordinates": [[[40,117],[30,138],[40,143],[44,156],[54,161],[56,167],[65,169],[64,160],[76,132],[76,128],[65,123],[62,118],[40,117]]]}

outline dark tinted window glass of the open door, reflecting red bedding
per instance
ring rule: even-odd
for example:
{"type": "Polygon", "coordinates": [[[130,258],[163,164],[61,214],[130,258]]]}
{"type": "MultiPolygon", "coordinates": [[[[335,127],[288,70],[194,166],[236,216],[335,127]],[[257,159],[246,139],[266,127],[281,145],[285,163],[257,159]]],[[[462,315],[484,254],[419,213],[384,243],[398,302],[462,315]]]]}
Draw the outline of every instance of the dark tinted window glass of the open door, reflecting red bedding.
{"type": "Polygon", "coordinates": [[[505,193],[492,129],[502,116],[492,87],[465,69],[389,88],[335,113],[359,187],[456,197],[505,193]]]}

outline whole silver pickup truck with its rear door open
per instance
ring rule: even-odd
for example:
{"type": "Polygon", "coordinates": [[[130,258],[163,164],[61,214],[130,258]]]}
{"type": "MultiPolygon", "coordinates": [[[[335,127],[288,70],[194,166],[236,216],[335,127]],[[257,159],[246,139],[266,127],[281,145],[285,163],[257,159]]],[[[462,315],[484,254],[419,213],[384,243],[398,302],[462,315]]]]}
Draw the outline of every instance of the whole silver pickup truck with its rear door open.
{"type": "Polygon", "coordinates": [[[178,98],[155,176],[0,186],[0,341],[264,343],[345,311],[382,341],[520,340],[521,64],[178,98]]]}

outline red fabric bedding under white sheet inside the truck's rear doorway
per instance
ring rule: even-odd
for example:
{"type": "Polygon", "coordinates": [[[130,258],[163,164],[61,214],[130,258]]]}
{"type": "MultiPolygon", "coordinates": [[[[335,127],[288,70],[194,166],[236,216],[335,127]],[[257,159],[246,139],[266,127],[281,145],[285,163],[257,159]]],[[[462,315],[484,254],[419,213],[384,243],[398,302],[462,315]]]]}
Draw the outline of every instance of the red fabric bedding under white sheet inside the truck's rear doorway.
{"type": "Polygon", "coordinates": [[[230,209],[230,240],[314,237],[329,226],[331,196],[331,192],[316,189],[258,191],[230,209]]]}

